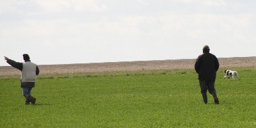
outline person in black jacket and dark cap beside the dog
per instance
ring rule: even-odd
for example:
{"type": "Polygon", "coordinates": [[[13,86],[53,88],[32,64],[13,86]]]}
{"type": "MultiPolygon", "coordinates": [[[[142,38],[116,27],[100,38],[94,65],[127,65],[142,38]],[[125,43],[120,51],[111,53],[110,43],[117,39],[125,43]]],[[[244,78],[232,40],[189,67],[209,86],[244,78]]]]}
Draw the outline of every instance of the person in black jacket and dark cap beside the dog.
{"type": "Polygon", "coordinates": [[[212,94],[215,104],[220,104],[217,97],[216,90],[214,88],[216,72],[220,67],[219,61],[210,53],[210,48],[205,45],[203,48],[203,54],[198,56],[195,63],[195,70],[198,73],[199,84],[201,93],[205,104],[207,104],[207,90],[212,94]]]}

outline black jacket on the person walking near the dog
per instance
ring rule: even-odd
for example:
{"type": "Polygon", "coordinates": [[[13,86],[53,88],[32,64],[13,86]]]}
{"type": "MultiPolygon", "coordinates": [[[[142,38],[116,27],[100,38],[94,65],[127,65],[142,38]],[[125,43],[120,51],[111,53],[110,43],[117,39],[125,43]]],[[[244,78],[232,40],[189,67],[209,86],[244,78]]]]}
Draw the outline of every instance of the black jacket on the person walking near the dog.
{"type": "Polygon", "coordinates": [[[216,72],[220,67],[218,58],[209,52],[198,56],[195,63],[195,70],[198,73],[198,79],[202,81],[213,81],[216,79],[216,72]]]}

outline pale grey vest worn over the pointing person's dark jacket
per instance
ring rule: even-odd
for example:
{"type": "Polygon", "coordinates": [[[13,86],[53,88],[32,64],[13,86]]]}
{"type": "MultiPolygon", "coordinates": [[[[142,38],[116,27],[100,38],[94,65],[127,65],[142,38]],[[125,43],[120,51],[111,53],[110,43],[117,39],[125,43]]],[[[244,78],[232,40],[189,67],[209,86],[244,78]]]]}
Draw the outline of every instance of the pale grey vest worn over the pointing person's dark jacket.
{"type": "Polygon", "coordinates": [[[36,64],[31,61],[23,63],[21,71],[21,82],[35,82],[36,81],[36,64]]]}

